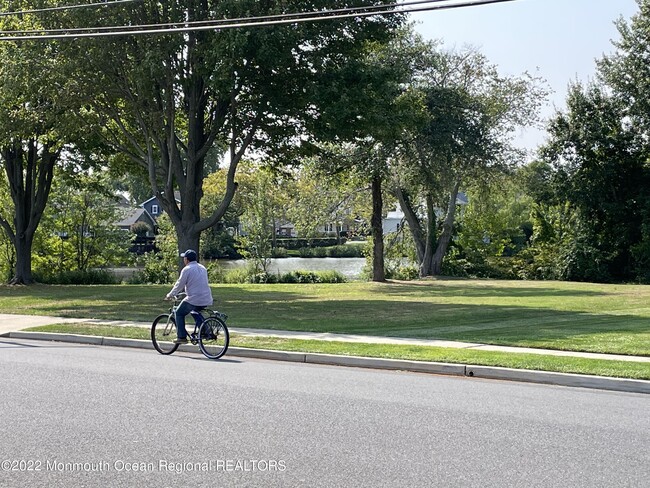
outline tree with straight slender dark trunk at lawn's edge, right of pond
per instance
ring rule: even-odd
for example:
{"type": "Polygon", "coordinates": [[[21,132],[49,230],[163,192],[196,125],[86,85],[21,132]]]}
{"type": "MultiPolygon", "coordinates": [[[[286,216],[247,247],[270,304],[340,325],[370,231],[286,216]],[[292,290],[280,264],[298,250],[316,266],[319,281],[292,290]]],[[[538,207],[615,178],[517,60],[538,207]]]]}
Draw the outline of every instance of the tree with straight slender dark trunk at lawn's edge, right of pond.
{"type": "Polygon", "coordinates": [[[326,149],[325,169],[363,176],[372,195],[370,229],[373,242],[372,280],[385,281],[383,236],[383,186],[390,174],[404,127],[416,116],[405,93],[419,45],[409,28],[394,32],[389,42],[367,43],[364,56],[341,70],[340,82],[317,87],[327,97],[336,90],[338,101],[329,103],[314,121],[316,139],[340,144],[326,149]]]}

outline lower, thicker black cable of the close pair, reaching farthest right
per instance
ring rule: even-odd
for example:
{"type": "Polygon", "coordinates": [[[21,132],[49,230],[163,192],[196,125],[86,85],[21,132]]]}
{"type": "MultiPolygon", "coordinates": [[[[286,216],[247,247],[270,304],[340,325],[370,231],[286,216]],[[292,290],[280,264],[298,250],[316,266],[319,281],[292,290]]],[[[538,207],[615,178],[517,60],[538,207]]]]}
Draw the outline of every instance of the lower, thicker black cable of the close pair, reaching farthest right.
{"type": "MultiPolygon", "coordinates": [[[[464,7],[475,7],[480,5],[496,4],[496,3],[505,3],[512,2],[516,0],[470,0],[464,2],[458,2],[455,4],[445,4],[445,5],[430,5],[431,3],[438,3],[445,0],[429,0],[428,2],[414,2],[414,3],[425,3],[427,4],[424,7],[409,7],[404,9],[386,9],[384,6],[377,7],[375,11],[356,11],[354,13],[338,13],[330,15],[329,11],[323,11],[320,13],[309,12],[304,14],[293,14],[293,15],[312,15],[311,17],[300,17],[300,18],[286,18],[283,16],[282,19],[277,20],[263,20],[263,21],[253,21],[252,18],[244,18],[241,22],[234,22],[231,19],[226,20],[215,20],[215,21],[201,21],[204,22],[202,25],[195,25],[194,22],[183,22],[179,24],[172,24],[175,27],[159,27],[154,25],[154,28],[151,29],[142,29],[142,26],[133,26],[133,27],[123,27],[123,28],[140,28],[140,30],[121,30],[121,31],[101,31],[98,32],[98,28],[88,28],[84,32],[72,32],[69,34],[42,34],[42,35],[14,35],[14,36],[0,36],[0,41],[19,41],[19,40],[52,40],[52,39],[78,39],[78,38],[92,38],[92,37],[115,37],[115,36],[125,36],[125,35],[144,35],[144,34],[171,34],[171,33],[184,33],[184,32],[194,32],[194,31],[205,31],[205,30],[226,30],[226,29],[238,29],[245,27],[268,27],[268,26],[279,26],[287,24],[298,24],[303,22],[317,22],[321,20],[333,20],[333,19],[349,19],[349,18],[359,18],[359,17],[371,17],[376,15],[393,15],[398,13],[410,13],[410,12],[426,12],[434,10],[448,10],[454,8],[464,8],[464,7]],[[314,16],[316,15],[316,16],[314,16]],[[231,23],[223,23],[231,22],[231,23]]],[[[404,4],[390,4],[390,5],[404,5],[404,4]]],[[[362,8],[362,7],[360,7],[362,8]]],[[[289,14],[291,15],[291,14],[289,14]]],[[[161,24],[162,25],[162,24],[161,24]]],[[[22,32],[22,31],[13,31],[12,33],[22,32]]],[[[42,32],[42,31],[40,31],[42,32]]],[[[66,31],[70,32],[70,31],[66,31]]]]}

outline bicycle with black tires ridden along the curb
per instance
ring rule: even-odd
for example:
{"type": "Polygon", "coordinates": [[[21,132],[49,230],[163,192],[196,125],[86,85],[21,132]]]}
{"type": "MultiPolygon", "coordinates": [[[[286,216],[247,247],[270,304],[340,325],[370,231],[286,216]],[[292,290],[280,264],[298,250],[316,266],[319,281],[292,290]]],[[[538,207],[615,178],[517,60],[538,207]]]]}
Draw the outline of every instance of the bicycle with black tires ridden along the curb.
{"type": "MultiPolygon", "coordinates": [[[[181,299],[180,296],[174,297],[169,313],[158,315],[151,324],[151,342],[160,354],[173,354],[180,346],[174,343],[174,339],[177,337],[175,313],[181,299]]],[[[198,344],[208,359],[219,359],[226,354],[230,343],[230,333],[226,326],[228,316],[208,308],[193,310],[189,315],[194,319],[194,331],[187,336],[190,342],[198,344]]]]}

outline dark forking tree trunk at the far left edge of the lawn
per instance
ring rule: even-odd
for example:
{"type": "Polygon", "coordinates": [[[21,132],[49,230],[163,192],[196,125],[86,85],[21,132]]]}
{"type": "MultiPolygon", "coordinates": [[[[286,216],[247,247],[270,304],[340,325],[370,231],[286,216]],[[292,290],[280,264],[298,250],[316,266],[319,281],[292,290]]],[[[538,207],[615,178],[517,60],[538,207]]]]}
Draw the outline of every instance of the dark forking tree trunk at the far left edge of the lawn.
{"type": "Polygon", "coordinates": [[[32,283],[32,243],[52,188],[59,151],[36,140],[2,148],[5,171],[14,203],[13,226],[0,218],[0,226],[16,251],[16,269],[10,284],[32,283]]]}

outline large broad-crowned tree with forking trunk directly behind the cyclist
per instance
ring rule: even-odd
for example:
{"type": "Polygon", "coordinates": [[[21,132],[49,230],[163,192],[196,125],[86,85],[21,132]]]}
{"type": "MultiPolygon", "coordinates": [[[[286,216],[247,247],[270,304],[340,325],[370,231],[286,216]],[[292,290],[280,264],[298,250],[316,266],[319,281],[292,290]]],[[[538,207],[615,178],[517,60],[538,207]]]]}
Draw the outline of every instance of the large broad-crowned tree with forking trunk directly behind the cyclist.
{"type": "MultiPolygon", "coordinates": [[[[100,25],[184,23],[339,6],[348,2],[145,0],[93,20],[100,25]]],[[[179,249],[198,249],[201,232],[219,222],[232,201],[237,167],[247,151],[280,151],[300,134],[304,119],[320,110],[309,87],[357,56],[366,39],[385,36],[393,22],[376,17],[102,38],[71,43],[67,55],[78,66],[77,79],[92,107],[88,115],[104,126],[116,148],[146,168],[176,229],[179,249]],[[226,192],[204,215],[206,160],[224,148],[226,192]]]]}

